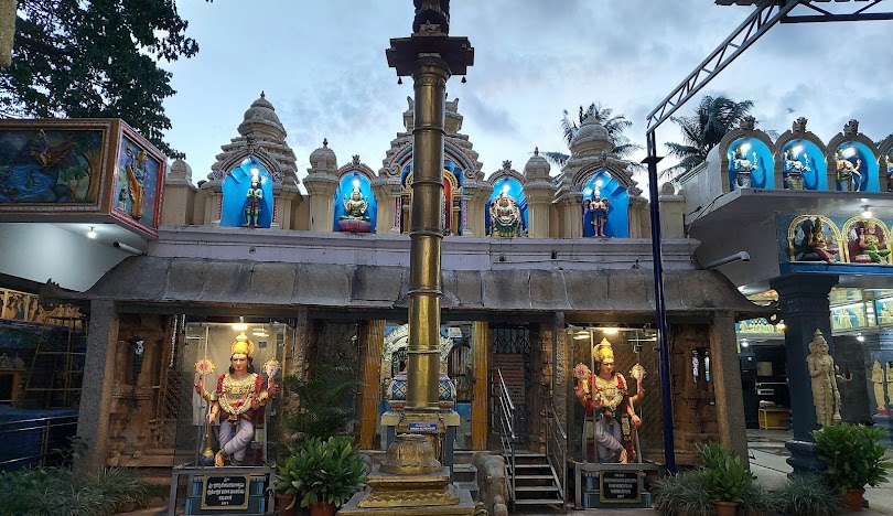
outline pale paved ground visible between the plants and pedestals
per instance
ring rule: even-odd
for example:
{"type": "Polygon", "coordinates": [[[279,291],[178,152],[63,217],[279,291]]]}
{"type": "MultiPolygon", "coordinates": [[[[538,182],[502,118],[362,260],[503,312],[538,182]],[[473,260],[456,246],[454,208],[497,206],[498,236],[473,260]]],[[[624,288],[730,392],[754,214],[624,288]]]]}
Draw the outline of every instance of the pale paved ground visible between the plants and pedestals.
{"type": "MultiPolygon", "coordinates": [[[[747,430],[747,441],[750,448],[751,471],[757,481],[768,488],[781,486],[790,466],[785,460],[788,452],[784,442],[790,439],[790,433],[782,430],[747,430]]],[[[887,454],[893,459],[893,450],[887,454]]],[[[893,475],[891,475],[893,476],[893,475]]],[[[893,481],[893,477],[891,479],[893,481]]],[[[882,484],[881,487],[867,487],[865,499],[869,502],[869,509],[863,510],[863,516],[893,515],[893,483],[882,484]]],[[[133,513],[126,513],[128,516],[162,516],[166,514],[166,506],[157,504],[133,513]]],[[[561,514],[558,510],[551,513],[519,513],[524,516],[556,516],[561,514]]],[[[570,516],[655,516],[653,509],[587,509],[569,510],[570,516]]]]}

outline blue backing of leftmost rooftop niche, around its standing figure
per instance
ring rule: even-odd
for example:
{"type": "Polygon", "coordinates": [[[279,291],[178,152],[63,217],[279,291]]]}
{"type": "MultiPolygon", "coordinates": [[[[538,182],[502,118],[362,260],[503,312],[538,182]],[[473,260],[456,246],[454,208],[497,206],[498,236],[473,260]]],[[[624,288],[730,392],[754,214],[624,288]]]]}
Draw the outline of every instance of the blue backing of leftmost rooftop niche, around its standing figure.
{"type": "Polygon", "coordinates": [[[235,169],[226,174],[223,184],[223,208],[220,209],[220,226],[241,227],[245,226],[245,206],[248,203],[246,195],[251,187],[251,174],[257,171],[260,178],[260,190],[263,191],[263,200],[260,202],[260,216],[258,227],[270,227],[272,223],[272,178],[267,169],[250,157],[241,161],[235,169]]]}

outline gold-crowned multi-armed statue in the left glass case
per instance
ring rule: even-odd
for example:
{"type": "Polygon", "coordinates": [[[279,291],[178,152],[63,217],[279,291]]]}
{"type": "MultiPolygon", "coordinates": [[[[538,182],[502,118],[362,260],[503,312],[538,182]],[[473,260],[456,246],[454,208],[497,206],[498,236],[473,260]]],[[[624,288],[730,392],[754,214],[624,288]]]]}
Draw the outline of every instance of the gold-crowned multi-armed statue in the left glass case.
{"type": "Polygon", "coordinates": [[[251,358],[254,351],[255,344],[245,332],[239,333],[229,346],[229,373],[217,378],[217,385],[211,393],[205,389],[204,376],[195,385],[195,391],[211,404],[207,415],[209,427],[214,426],[218,415],[223,412],[217,434],[220,449],[214,455],[214,464],[218,467],[227,462],[230,465],[243,464],[248,444],[255,437],[258,409],[278,390],[272,375],[267,381],[267,388],[263,388],[263,377],[255,373],[251,358]]]}

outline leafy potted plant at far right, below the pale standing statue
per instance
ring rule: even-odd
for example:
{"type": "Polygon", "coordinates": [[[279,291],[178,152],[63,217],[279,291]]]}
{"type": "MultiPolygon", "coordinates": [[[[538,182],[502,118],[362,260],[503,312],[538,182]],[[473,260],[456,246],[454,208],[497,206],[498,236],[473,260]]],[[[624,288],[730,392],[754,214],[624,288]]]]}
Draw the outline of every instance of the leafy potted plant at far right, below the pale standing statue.
{"type": "Polygon", "coordinates": [[[822,476],[840,492],[848,510],[862,510],[865,485],[878,487],[886,482],[886,469],[893,466],[884,460],[886,450],[881,444],[884,431],[842,422],[811,433],[819,459],[825,462],[822,476]]]}

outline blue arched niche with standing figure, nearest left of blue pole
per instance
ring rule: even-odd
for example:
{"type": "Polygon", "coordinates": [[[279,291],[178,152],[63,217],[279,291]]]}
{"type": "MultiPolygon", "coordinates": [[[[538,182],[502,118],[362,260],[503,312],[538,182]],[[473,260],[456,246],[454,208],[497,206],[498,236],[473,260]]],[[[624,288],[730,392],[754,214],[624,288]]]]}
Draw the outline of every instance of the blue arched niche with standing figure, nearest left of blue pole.
{"type": "Polygon", "coordinates": [[[583,236],[630,238],[630,194],[605,169],[583,185],[583,236]]]}

